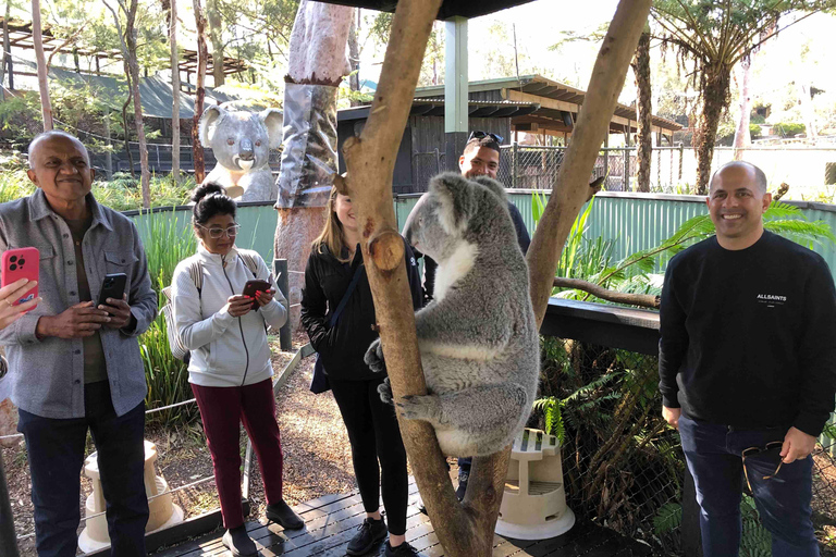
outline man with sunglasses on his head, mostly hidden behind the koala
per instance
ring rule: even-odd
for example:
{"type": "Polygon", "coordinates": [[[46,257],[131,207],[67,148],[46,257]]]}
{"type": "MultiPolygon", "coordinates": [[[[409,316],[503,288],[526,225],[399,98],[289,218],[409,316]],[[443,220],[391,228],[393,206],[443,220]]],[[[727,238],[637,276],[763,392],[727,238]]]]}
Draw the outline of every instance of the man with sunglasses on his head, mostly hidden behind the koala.
{"type": "MultiPolygon", "coordinates": [[[[477,176],[488,176],[496,180],[496,173],[500,170],[500,144],[503,138],[500,135],[488,132],[472,132],[467,139],[465,150],[458,158],[458,169],[466,178],[477,176]]],[[[525,256],[531,238],[526,228],[526,222],[519,213],[519,209],[512,202],[508,202],[508,212],[514,222],[514,228],[517,232],[517,243],[519,249],[525,256]]],[[[429,257],[421,256],[416,251],[416,257],[423,257],[423,292],[425,302],[432,299],[435,287],[435,271],[438,264],[429,257]]],[[[471,459],[469,457],[458,459],[458,487],[456,487],[456,497],[462,500],[467,491],[467,481],[470,476],[471,459]]]]}

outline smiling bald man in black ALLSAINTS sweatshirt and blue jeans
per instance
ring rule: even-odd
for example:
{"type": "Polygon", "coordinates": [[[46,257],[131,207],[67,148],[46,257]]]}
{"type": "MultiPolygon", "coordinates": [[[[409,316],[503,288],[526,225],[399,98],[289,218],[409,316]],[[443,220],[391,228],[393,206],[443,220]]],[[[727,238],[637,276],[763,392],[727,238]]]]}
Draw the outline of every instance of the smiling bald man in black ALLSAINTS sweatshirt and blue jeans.
{"type": "Polygon", "coordinates": [[[763,230],[757,166],[712,177],[716,236],[671,260],[661,305],[662,414],[681,435],[705,557],[738,555],[743,480],[775,556],[817,556],[810,453],[834,408],[836,290],[821,256],[763,230]]]}

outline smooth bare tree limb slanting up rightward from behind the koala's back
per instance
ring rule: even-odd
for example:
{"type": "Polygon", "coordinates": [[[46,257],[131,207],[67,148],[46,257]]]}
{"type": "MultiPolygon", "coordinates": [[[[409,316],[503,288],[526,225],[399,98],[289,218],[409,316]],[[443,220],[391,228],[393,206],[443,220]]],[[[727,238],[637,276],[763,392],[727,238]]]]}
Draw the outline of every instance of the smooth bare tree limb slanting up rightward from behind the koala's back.
{"type": "Polygon", "coordinates": [[[651,0],[619,1],[598,53],[587,86],[583,110],[580,111],[571,141],[557,171],[554,189],[531,239],[526,259],[538,325],[545,318],[561,251],[589,195],[589,176],[608,132],[610,119],[624,86],[639,35],[647,22],[650,4],[651,0]]]}

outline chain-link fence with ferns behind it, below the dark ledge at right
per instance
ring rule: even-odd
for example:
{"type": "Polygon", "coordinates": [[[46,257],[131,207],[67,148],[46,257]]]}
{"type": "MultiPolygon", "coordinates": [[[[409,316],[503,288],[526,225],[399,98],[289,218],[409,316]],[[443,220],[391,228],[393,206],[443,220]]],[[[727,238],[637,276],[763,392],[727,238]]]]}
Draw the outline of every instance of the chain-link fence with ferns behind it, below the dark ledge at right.
{"type": "MultiPolygon", "coordinates": [[[[538,412],[536,426],[550,422],[563,438],[567,504],[579,517],[647,543],[654,555],[684,555],[686,465],[679,434],[662,419],[657,382],[655,356],[544,337],[540,396],[554,400],[560,417],[538,412]]],[[[827,436],[820,442],[813,521],[822,554],[834,556],[836,446],[827,436]]],[[[741,513],[741,557],[771,555],[749,494],[741,513]]]]}

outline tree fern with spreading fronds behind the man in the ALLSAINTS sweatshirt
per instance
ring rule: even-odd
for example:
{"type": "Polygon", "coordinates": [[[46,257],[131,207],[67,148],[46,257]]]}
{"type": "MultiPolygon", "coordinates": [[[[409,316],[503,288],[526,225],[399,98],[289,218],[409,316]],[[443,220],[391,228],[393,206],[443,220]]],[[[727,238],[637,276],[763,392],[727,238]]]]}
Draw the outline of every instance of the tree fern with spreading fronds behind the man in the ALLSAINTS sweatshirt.
{"type": "Polygon", "coordinates": [[[708,189],[714,140],[721,115],[728,108],[735,65],[782,29],[834,7],[836,0],[654,0],[654,36],[693,62],[692,75],[701,95],[693,134],[697,194],[708,189]],[[778,24],[790,14],[796,15],[792,21],[778,24]]]}

